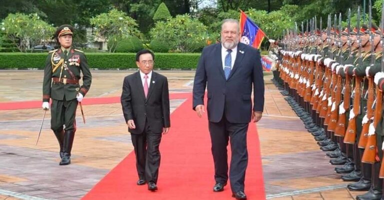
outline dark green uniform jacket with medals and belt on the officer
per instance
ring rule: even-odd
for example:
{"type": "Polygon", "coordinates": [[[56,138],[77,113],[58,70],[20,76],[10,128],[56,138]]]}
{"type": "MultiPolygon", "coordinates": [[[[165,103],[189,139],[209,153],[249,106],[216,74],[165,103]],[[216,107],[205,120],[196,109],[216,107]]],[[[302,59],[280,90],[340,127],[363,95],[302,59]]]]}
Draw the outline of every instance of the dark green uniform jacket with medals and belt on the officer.
{"type": "Polygon", "coordinates": [[[88,92],[90,84],[92,81],[92,75],[89,71],[88,62],[84,53],[80,50],[71,48],[66,56],[61,49],[55,49],[49,51],[49,54],[45,61],[44,68],[44,78],[42,83],[42,101],[49,102],[49,98],[55,100],[63,100],[64,97],[66,100],[72,100],[76,98],[77,91],[76,88],[79,88],[79,93],[83,96],[88,92]],[[68,70],[64,69],[64,65],[72,72],[72,75],[68,70]],[[63,69],[61,69],[63,67],[63,69]],[[79,84],[62,84],[62,83],[53,83],[52,78],[61,78],[67,79],[76,79],[81,78],[82,72],[82,85],[79,84]]]}

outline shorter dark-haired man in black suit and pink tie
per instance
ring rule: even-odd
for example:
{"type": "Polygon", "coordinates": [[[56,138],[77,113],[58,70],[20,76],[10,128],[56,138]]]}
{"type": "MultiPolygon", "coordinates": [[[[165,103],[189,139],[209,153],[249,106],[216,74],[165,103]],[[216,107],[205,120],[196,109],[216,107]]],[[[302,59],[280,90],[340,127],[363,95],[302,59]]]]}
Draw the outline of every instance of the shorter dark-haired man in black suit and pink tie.
{"type": "Polygon", "coordinates": [[[148,183],[148,190],[157,190],[161,134],[169,131],[168,80],[154,71],[154,54],[143,49],[136,54],[139,71],[124,78],[121,105],[131,135],[137,185],[148,183]]]}

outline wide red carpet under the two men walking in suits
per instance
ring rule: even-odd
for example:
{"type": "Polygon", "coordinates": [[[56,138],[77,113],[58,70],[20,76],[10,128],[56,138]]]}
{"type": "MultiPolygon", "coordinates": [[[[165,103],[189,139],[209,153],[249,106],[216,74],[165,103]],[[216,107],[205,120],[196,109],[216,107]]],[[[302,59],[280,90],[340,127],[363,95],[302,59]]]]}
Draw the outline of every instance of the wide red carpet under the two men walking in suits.
{"type": "MultiPolygon", "coordinates": [[[[213,160],[207,117],[198,118],[189,97],[171,114],[171,128],[160,144],[158,191],[137,186],[134,152],[112,169],[82,200],[234,200],[229,184],[213,193],[213,160]]],[[[254,124],[248,130],[245,194],[265,200],[259,140],[254,124]]],[[[229,147],[228,147],[229,148],[229,147]]]]}

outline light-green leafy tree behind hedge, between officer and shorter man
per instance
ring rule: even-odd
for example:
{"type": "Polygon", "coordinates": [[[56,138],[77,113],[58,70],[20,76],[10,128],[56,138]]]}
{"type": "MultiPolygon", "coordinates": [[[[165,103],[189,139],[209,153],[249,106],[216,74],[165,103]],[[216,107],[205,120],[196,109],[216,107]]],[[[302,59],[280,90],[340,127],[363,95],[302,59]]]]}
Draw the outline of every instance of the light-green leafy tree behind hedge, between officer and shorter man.
{"type": "Polygon", "coordinates": [[[119,38],[139,34],[136,21],[117,9],[92,17],[90,23],[95,28],[96,37],[104,38],[111,46],[109,52],[114,52],[119,38]]]}

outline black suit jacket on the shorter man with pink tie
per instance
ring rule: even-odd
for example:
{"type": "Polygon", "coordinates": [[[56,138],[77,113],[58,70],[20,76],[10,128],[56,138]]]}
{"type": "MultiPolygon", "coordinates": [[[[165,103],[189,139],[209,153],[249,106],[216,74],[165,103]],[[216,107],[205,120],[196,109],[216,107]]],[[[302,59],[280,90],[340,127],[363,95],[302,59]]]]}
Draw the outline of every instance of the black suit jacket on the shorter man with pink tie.
{"type": "Polygon", "coordinates": [[[121,93],[121,106],[125,122],[133,120],[132,134],[141,134],[145,121],[153,133],[161,133],[162,128],[170,127],[168,80],[152,71],[148,96],[145,98],[140,73],[137,71],[124,78],[121,93]]]}

